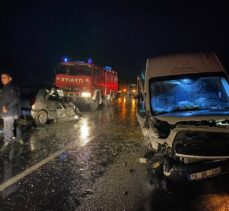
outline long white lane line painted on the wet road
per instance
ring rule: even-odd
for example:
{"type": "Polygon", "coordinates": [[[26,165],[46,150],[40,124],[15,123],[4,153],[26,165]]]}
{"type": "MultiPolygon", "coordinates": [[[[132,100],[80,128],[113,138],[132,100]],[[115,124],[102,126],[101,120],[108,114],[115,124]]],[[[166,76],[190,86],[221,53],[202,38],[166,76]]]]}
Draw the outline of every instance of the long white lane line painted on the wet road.
{"type": "Polygon", "coordinates": [[[54,158],[56,158],[57,156],[59,156],[61,153],[63,153],[65,151],[67,147],[64,147],[63,149],[52,153],[49,157],[45,158],[44,160],[36,163],[35,165],[27,168],[25,171],[17,174],[16,176],[10,178],[9,180],[3,182],[0,185],[0,192],[4,191],[6,188],[12,186],[13,184],[19,182],[20,180],[22,180],[24,177],[28,176],[29,174],[31,174],[32,172],[36,171],[38,168],[44,166],[45,164],[47,164],[48,162],[50,162],[51,160],[53,160],[54,158]]]}

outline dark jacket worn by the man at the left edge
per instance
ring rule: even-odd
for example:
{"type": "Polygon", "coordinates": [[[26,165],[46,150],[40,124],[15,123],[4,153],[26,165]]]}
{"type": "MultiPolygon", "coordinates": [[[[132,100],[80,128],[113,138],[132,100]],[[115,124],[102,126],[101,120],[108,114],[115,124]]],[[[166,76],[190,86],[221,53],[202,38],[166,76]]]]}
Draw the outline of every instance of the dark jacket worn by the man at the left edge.
{"type": "Polygon", "coordinates": [[[15,86],[13,86],[11,83],[3,86],[0,96],[1,116],[19,116],[19,101],[19,92],[15,86]],[[6,106],[8,110],[7,113],[2,112],[3,106],[6,106]]]}

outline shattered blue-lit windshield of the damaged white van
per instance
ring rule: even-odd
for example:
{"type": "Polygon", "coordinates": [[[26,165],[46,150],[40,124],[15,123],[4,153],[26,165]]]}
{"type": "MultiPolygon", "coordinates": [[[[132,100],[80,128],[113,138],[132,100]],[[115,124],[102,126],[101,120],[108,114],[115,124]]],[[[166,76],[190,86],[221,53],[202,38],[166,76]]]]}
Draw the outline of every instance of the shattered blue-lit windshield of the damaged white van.
{"type": "Polygon", "coordinates": [[[222,76],[152,82],[150,91],[151,109],[157,114],[229,108],[229,84],[222,76]]]}

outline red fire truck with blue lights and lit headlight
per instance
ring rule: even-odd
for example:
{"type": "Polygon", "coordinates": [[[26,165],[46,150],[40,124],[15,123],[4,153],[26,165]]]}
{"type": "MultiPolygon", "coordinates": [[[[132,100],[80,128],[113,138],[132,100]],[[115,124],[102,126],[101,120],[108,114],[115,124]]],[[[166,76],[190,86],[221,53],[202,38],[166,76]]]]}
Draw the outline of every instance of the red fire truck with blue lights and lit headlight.
{"type": "Polygon", "coordinates": [[[81,61],[61,62],[57,68],[56,87],[71,96],[77,106],[113,103],[118,91],[118,74],[111,67],[100,67],[81,61]]]}

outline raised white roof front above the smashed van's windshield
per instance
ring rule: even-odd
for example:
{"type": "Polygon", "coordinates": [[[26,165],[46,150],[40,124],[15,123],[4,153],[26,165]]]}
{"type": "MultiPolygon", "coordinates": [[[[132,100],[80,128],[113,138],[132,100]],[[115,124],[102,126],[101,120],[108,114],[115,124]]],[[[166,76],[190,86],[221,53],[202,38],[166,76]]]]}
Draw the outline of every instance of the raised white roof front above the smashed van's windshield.
{"type": "Polygon", "coordinates": [[[150,58],[146,63],[146,72],[150,79],[172,75],[224,72],[224,68],[214,53],[191,53],[150,58]]]}

